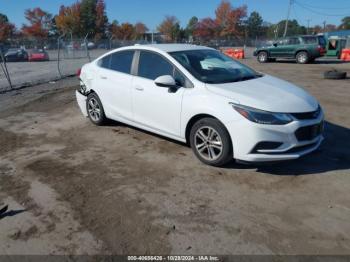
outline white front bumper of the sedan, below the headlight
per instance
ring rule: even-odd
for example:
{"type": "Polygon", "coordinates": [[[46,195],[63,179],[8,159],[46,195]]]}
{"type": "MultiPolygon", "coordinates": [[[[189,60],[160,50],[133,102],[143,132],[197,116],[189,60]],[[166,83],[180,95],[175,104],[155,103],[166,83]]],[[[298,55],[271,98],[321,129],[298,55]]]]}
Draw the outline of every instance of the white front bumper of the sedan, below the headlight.
{"type": "Polygon", "coordinates": [[[270,162],[297,159],[315,151],[323,141],[322,132],[307,139],[297,138],[302,127],[322,125],[323,113],[317,119],[295,120],[287,125],[261,125],[241,119],[226,124],[233,144],[233,157],[247,162],[270,162]],[[279,142],[273,149],[255,150],[259,143],[279,142]]]}

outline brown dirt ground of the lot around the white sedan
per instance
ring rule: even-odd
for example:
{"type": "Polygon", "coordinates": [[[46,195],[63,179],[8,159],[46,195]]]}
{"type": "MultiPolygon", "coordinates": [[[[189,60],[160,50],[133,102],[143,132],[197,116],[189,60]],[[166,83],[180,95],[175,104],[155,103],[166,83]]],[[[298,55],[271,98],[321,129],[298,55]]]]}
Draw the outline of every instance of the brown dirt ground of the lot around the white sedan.
{"type": "Polygon", "coordinates": [[[244,63],[319,99],[319,151],[213,168],[186,145],[92,125],[74,78],[0,95],[0,254],[350,254],[350,79],[322,77],[350,64],[244,63]]]}

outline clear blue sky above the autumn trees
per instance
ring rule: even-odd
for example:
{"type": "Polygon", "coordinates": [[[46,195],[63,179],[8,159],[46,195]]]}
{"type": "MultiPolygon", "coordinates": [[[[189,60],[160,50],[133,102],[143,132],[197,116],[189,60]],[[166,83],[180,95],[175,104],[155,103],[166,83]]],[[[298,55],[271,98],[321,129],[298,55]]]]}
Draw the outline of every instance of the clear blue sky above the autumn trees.
{"type": "MultiPolygon", "coordinates": [[[[165,15],[175,15],[186,26],[192,16],[198,18],[214,17],[215,9],[221,0],[105,0],[110,21],[143,22],[152,31],[165,15]]],[[[350,16],[350,0],[292,0],[291,19],[299,24],[310,26],[340,24],[342,17],[350,16]],[[300,3],[300,4],[299,4],[300,3]],[[301,6],[303,5],[303,6],[301,6]],[[341,15],[341,16],[338,16],[341,15]]],[[[8,16],[12,23],[21,27],[25,23],[23,16],[27,8],[40,7],[57,14],[59,7],[70,5],[76,0],[0,0],[0,13],[8,16]]],[[[287,16],[289,0],[231,0],[232,5],[247,5],[248,13],[258,11],[267,22],[276,23],[287,16]]]]}

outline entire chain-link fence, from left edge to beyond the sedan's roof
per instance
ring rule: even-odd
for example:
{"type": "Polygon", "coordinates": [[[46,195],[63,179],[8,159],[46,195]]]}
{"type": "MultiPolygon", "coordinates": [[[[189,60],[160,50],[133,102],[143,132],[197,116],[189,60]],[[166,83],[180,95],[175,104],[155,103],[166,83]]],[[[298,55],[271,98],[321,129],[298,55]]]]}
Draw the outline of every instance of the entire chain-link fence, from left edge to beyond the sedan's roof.
{"type": "MultiPolygon", "coordinates": [[[[162,41],[155,38],[154,42],[161,43],[162,41]]],[[[186,43],[185,40],[179,42],[186,43]]],[[[150,39],[90,41],[73,37],[59,37],[45,41],[16,39],[6,44],[0,43],[0,93],[74,75],[82,65],[111,49],[149,43],[150,39]]],[[[256,46],[260,45],[261,41],[257,39],[210,40],[192,43],[220,49],[222,47],[256,46]]],[[[252,51],[249,47],[246,50],[246,57],[249,57],[252,51]]]]}

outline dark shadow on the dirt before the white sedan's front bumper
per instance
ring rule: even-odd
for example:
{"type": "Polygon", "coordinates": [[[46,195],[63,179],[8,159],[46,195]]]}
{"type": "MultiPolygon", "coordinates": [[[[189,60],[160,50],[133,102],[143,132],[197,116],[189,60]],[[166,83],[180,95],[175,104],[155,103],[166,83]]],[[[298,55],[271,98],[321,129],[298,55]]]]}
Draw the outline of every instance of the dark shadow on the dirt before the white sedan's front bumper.
{"type": "Polygon", "coordinates": [[[328,121],[325,122],[325,140],[320,149],[300,159],[275,163],[237,164],[227,168],[256,169],[271,175],[324,174],[336,170],[350,169],[350,129],[328,121]]]}

